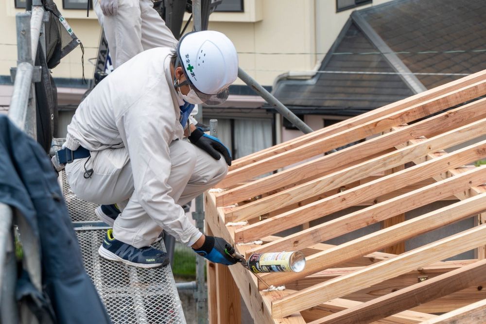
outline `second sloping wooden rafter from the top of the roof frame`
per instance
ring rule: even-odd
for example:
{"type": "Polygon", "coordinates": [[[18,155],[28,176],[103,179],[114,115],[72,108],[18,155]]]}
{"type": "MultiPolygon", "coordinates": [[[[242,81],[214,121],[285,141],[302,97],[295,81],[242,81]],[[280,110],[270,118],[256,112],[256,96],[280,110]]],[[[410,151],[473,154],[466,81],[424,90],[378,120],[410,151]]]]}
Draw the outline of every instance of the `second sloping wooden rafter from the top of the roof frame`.
{"type": "Polygon", "coordinates": [[[355,126],[346,131],[317,139],[313,142],[300,145],[294,149],[279,153],[275,156],[264,158],[258,162],[246,165],[234,171],[229,171],[223,181],[218,185],[221,188],[228,188],[246,179],[275,171],[279,168],[291,165],[348,143],[360,140],[366,136],[372,136],[392,126],[410,122],[452,107],[456,104],[477,98],[486,94],[486,83],[480,81],[473,85],[467,85],[461,89],[451,91],[448,94],[438,96],[427,102],[404,108],[398,112],[391,113],[378,119],[371,120],[364,124],[355,126]]]}

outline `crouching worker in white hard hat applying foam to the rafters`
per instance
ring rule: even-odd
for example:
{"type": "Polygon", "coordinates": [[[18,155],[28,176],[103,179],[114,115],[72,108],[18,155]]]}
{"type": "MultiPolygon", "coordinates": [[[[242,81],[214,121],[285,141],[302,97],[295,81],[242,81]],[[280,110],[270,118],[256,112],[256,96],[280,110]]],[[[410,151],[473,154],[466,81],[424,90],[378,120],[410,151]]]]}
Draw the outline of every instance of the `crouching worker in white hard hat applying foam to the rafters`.
{"type": "Polygon", "coordinates": [[[238,56],[224,34],[192,32],[176,49],[139,53],[81,102],[54,158],[66,164],[77,196],[103,205],[97,214],[113,229],[101,256],[143,268],[166,265],[167,255],[150,247],[165,229],[212,262],[236,262],[225,253],[226,241],[199,232],[181,205],[217,184],[231,165],[217,138],[184,126],[194,104],[225,102],[237,73],[238,56]]]}

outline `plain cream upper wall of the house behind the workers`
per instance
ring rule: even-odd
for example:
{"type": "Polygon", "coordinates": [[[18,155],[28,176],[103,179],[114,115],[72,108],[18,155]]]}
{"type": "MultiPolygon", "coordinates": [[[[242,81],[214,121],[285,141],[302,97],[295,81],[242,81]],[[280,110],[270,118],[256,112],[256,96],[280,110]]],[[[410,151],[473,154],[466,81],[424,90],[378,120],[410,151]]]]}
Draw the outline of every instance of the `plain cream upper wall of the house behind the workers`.
{"type": "MultiPolygon", "coordinates": [[[[373,0],[373,5],[387,1],[373,0]]],[[[62,0],[54,2],[83,42],[85,76],[90,78],[94,65],[89,59],[96,57],[101,32],[96,15],[91,10],[86,17],[86,10],[62,9],[62,0]]],[[[209,29],[233,40],[240,66],[262,85],[272,85],[278,75],[288,71],[314,70],[352,12],[336,13],[336,0],[244,0],[244,9],[244,13],[212,14],[209,29]]],[[[22,9],[14,8],[14,0],[0,1],[0,75],[9,75],[16,64],[17,12],[22,9]]],[[[80,79],[81,49],[71,52],[52,73],[53,77],[80,79]]],[[[243,83],[238,80],[237,84],[243,83]]]]}

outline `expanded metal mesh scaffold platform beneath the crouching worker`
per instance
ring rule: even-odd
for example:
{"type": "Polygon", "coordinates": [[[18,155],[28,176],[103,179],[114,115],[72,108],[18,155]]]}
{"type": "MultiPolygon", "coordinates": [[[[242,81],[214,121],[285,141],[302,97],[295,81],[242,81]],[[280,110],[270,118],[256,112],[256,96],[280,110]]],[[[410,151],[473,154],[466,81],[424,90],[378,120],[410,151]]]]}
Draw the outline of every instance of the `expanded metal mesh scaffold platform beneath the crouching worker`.
{"type": "MultiPolygon", "coordinates": [[[[98,249],[109,227],[93,227],[99,222],[97,207],[79,199],[69,188],[64,171],[59,173],[66,204],[81,247],[87,274],[93,280],[114,324],[186,324],[170,265],[142,269],[108,261],[98,249]]],[[[165,251],[163,241],[153,245],[165,251]]]]}

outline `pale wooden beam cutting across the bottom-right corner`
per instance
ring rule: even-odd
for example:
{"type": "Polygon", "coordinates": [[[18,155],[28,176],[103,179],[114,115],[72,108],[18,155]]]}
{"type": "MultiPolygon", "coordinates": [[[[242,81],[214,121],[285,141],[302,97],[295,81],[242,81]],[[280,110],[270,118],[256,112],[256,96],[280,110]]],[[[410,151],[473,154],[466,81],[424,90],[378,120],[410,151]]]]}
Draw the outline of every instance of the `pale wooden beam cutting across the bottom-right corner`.
{"type": "Polygon", "coordinates": [[[459,323],[484,323],[486,318],[486,299],[440,315],[422,324],[459,324],[459,323]]]}

